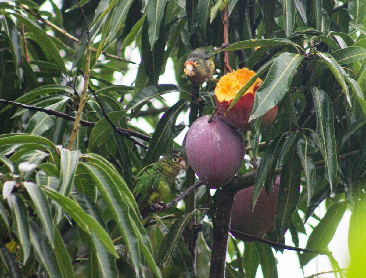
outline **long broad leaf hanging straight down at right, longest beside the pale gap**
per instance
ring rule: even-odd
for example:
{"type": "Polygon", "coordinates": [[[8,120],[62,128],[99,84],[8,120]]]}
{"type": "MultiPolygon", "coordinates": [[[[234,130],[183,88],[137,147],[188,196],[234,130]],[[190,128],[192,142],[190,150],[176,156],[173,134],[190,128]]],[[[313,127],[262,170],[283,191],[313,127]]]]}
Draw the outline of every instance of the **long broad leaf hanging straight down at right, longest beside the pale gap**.
{"type": "Polygon", "coordinates": [[[316,133],[320,137],[325,162],[325,177],[329,180],[330,189],[337,175],[337,143],[334,133],[334,114],[332,101],[322,89],[311,87],[315,114],[317,117],[316,133]]]}

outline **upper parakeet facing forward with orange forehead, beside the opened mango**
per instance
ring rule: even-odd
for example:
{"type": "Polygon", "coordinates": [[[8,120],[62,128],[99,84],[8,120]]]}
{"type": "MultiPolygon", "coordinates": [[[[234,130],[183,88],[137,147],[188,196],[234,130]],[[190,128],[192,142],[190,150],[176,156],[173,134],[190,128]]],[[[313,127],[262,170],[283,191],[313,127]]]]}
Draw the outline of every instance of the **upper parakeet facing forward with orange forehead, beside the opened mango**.
{"type": "Polygon", "coordinates": [[[184,63],[184,73],[194,84],[210,81],[215,71],[213,47],[199,47],[192,51],[184,63]]]}

